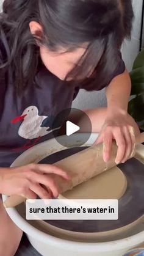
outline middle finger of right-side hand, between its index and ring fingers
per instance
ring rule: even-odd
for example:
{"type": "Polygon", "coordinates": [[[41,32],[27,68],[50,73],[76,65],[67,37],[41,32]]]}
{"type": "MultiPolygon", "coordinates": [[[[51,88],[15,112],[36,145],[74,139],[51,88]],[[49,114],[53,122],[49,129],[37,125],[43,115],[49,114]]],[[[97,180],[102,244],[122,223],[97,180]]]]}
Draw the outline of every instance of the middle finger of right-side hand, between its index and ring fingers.
{"type": "Polygon", "coordinates": [[[115,141],[117,142],[118,146],[115,163],[120,164],[126,152],[126,141],[123,136],[123,131],[118,129],[113,131],[113,137],[115,138],[115,141]]]}

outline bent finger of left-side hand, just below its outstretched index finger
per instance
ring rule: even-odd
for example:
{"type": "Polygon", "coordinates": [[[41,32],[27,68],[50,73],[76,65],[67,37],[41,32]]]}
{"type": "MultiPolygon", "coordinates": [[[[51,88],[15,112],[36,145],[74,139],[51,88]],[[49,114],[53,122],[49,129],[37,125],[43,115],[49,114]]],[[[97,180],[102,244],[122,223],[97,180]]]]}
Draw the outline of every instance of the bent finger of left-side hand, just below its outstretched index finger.
{"type": "Polygon", "coordinates": [[[45,185],[46,188],[51,189],[54,197],[59,196],[59,190],[56,184],[54,183],[54,180],[51,177],[48,177],[48,175],[35,174],[32,179],[33,181],[35,181],[35,183],[40,183],[41,185],[45,185]]]}

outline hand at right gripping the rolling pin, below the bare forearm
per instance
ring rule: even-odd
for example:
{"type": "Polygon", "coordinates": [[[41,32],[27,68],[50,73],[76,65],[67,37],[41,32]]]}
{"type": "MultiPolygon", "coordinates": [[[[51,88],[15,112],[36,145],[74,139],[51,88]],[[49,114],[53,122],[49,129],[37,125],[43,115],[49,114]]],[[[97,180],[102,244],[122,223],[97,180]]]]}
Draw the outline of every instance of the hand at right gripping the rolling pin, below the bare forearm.
{"type": "Polygon", "coordinates": [[[132,123],[129,122],[128,114],[107,114],[102,130],[95,142],[95,144],[103,143],[103,159],[105,162],[110,159],[113,139],[115,139],[118,146],[115,163],[125,163],[135,147],[135,131],[132,123]]]}

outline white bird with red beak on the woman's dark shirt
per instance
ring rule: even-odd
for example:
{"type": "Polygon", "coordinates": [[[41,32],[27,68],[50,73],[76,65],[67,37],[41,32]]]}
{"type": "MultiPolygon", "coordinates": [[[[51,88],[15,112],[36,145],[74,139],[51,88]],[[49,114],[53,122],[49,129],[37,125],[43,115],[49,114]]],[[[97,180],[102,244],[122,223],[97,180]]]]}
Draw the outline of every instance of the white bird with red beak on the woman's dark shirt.
{"type": "Polygon", "coordinates": [[[38,109],[35,106],[29,106],[23,111],[20,117],[16,117],[11,123],[17,123],[23,120],[18,130],[19,136],[24,139],[36,139],[43,137],[54,130],[60,128],[56,127],[52,129],[52,119],[45,115],[38,115],[38,109]]]}

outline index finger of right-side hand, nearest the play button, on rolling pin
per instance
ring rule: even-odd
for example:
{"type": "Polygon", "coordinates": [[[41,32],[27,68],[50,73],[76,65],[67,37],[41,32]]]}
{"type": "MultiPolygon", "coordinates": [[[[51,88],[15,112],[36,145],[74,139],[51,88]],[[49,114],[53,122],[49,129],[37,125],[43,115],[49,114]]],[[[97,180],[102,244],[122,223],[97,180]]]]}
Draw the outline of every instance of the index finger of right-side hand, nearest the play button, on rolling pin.
{"type": "Polygon", "coordinates": [[[104,139],[103,139],[103,159],[104,162],[108,162],[110,159],[110,152],[112,150],[112,132],[107,131],[107,133],[104,134],[104,139]]]}

